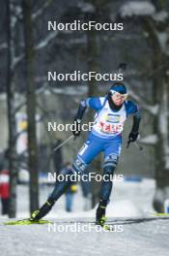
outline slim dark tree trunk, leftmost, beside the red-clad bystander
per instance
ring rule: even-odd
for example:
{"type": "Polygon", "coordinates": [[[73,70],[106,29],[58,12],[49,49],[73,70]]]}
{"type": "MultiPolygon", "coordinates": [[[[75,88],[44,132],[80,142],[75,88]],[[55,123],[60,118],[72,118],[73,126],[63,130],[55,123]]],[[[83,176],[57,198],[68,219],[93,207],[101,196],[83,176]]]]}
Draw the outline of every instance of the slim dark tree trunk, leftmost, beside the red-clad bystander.
{"type": "Polygon", "coordinates": [[[7,105],[8,105],[8,121],[9,121],[9,171],[10,171],[10,208],[9,217],[14,218],[16,213],[16,182],[17,182],[17,168],[16,168],[16,130],[15,130],[15,83],[14,83],[14,0],[8,0],[7,5],[7,44],[8,44],[8,63],[7,63],[7,105]]]}

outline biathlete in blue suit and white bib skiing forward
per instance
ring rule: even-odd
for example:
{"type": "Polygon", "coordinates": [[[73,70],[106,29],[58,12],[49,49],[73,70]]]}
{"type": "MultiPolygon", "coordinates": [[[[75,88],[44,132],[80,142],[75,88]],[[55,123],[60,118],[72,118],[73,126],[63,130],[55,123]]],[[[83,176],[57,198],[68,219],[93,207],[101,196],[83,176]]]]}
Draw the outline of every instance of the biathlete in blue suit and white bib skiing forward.
{"type": "MultiPolygon", "coordinates": [[[[82,175],[93,159],[103,151],[103,176],[106,175],[109,178],[102,179],[100,187],[99,207],[96,213],[96,223],[100,226],[103,226],[105,222],[105,210],[112,190],[111,177],[115,172],[121,154],[122,132],[124,123],[129,115],[133,115],[133,124],[128,135],[128,142],[135,142],[139,135],[140,113],[134,102],[127,101],[127,96],[127,86],[124,83],[115,82],[106,96],[92,97],[81,101],[74,119],[78,129],[72,133],[74,137],[78,137],[81,132],[79,126],[86,108],[93,109],[96,112],[93,128],[72,163],[72,168],[68,175],[82,175]]],[[[30,220],[38,221],[42,219],[70,187],[71,183],[70,179],[57,180],[47,201],[42,208],[35,210],[31,214],[30,220]]]]}

